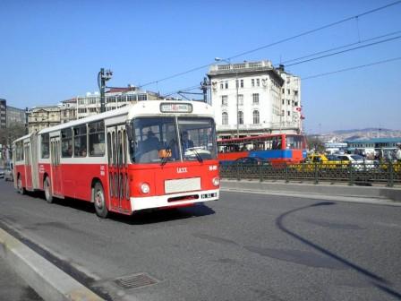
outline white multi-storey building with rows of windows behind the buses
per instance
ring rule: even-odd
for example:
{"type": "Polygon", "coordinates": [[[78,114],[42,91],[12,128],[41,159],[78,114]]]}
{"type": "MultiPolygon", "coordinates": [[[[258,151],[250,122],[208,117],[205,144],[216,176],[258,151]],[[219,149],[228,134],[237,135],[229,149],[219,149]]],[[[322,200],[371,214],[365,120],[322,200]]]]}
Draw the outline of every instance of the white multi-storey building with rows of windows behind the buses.
{"type": "Polygon", "coordinates": [[[301,81],[283,66],[214,64],[208,76],[218,138],[301,132],[301,81]]]}

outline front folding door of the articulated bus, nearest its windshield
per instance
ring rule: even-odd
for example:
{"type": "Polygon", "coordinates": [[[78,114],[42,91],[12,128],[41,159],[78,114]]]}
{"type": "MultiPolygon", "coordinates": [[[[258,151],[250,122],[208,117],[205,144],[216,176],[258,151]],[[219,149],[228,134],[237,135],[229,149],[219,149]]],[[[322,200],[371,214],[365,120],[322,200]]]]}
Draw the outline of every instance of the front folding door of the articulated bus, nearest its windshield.
{"type": "Polygon", "coordinates": [[[131,212],[125,125],[107,127],[107,159],[110,205],[131,212]]]}

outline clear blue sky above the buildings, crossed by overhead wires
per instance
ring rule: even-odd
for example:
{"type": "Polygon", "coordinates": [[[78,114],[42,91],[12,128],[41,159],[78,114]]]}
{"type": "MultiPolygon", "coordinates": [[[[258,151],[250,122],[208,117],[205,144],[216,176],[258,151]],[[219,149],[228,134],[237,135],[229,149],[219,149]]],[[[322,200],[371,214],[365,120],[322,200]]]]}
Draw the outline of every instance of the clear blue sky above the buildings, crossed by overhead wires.
{"type": "MultiPolygon", "coordinates": [[[[394,1],[0,1],[0,98],[56,104],[112,86],[141,85],[214,57],[231,57],[394,1]]],[[[401,30],[401,4],[233,62],[273,64],[401,30]]],[[[399,36],[401,33],[393,36],[399,36]]],[[[401,56],[401,39],[288,67],[303,77],[401,56]]],[[[401,129],[401,60],[302,82],[307,132],[401,129]]],[[[208,68],[146,86],[162,94],[199,84],[208,68]]]]}

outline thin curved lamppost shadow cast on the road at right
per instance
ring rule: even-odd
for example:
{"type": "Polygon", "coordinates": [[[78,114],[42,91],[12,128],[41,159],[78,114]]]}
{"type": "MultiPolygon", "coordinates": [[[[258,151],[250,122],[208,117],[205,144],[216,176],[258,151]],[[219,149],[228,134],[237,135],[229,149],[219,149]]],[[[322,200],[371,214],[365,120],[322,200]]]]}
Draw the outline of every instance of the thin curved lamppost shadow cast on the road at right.
{"type": "Polygon", "coordinates": [[[308,245],[311,248],[313,248],[314,250],[320,252],[321,254],[327,255],[327,256],[329,256],[329,258],[336,260],[337,262],[340,262],[341,264],[345,265],[346,267],[353,269],[354,271],[362,274],[364,277],[368,278],[371,281],[371,284],[374,287],[379,288],[382,292],[384,292],[392,297],[396,297],[397,299],[401,299],[401,294],[399,292],[397,292],[395,289],[389,288],[391,286],[391,283],[388,282],[388,280],[385,280],[384,278],[380,277],[379,275],[376,275],[375,273],[368,271],[368,270],[364,269],[363,267],[361,267],[353,262],[350,262],[337,254],[330,252],[328,249],[325,249],[324,247],[313,243],[311,240],[306,239],[303,236],[300,236],[300,235],[294,233],[290,229],[286,228],[284,225],[284,219],[288,215],[290,215],[294,212],[307,210],[307,209],[310,209],[313,207],[330,206],[330,205],[335,205],[335,204],[336,204],[335,202],[317,202],[312,205],[295,208],[291,211],[286,211],[286,212],[282,213],[279,217],[277,217],[276,226],[277,226],[277,228],[279,228],[280,230],[285,232],[287,235],[292,236],[295,239],[302,242],[304,245],[308,245]]]}

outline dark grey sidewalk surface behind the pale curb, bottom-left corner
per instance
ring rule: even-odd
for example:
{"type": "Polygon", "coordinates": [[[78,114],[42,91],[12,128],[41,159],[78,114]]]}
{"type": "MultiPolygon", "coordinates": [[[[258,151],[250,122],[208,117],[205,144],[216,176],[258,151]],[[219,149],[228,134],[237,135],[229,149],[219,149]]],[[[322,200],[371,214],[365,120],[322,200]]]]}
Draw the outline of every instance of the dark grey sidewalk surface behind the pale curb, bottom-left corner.
{"type": "Polygon", "coordinates": [[[0,300],[43,301],[0,256],[0,300]]]}

